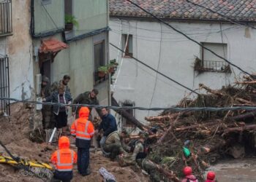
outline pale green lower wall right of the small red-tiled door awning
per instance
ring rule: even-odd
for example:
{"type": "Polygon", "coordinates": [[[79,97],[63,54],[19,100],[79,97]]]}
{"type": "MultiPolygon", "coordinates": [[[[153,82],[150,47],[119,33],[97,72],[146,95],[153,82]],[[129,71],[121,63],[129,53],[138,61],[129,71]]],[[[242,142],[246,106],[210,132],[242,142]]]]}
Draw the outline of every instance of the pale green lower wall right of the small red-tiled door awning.
{"type": "MultiPolygon", "coordinates": [[[[51,63],[50,81],[53,83],[62,79],[65,74],[69,74],[71,76],[69,87],[73,98],[78,96],[81,92],[92,90],[94,88],[94,41],[105,39],[107,42],[107,35],[107,33],[101,33],[69,43],[69,48],[61,50],[61,52],[56,55],[54,62],[51,63]]],[[[54,38],[61,41],[61,34],[57,34],[54,38]]],[[[40,44],[41,39],[34,39],[35,47],[39,47],[40,44]]],[[[37,74],[39,74],[38,63],[36,67],[37,74]]],[[[105,93],[108,88],[106,86],[107,85],[99,87],[99,89],[102,88],[102,92],[105,93]]],[[[105,100],[106,98],[108,98],[108,94],[103,94],[99,97],[100,100],[105,100]]]]}

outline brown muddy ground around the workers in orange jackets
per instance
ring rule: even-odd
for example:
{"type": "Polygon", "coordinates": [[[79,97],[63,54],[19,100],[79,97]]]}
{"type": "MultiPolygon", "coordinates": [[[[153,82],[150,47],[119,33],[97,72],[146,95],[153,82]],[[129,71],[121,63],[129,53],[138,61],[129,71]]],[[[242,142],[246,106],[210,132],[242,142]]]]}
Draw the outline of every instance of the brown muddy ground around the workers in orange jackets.
{"type": "MultiPolygon", "coordinates": [[[[40,162],[49,162],[50,155],[56,146],[48,147],[45,143],[33,143],[29,140],[29,116],[31,109],[23,104],[11,106],[10,118],[0,116],[0,140],[12,154],[24,159],[37,159],[40,162]]],[[[0,152],[4,149],[0,147],[0,152]]],[[[6,154],[6,153],[5,153],[6,154]]],[[[132,170],[132,167],[119,167],[117,162],[110,162],[102,157],[100,152],[91,153],[90,157],[91,175],[82,177],[78,175],[75,166],[74,178],[72,181],[102,181],[99,168],[105,167],[110,173],[115,175],[116,180],[121,181],[149,181],[147,175],[143,175],[140,170],[132,170]]],[[[10,165],[0,165],[0,181],[42,181],[35,177],[23,177],[18,174],[10,165]]]]}

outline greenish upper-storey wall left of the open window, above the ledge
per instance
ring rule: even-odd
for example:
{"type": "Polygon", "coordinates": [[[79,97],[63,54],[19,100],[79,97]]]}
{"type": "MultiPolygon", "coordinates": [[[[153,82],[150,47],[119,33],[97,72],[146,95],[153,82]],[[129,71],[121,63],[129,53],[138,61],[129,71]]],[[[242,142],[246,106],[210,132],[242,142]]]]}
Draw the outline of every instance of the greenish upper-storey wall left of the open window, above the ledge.
{"type": "Polygon", "coordinates": [[[52,0],[45,5],[41,0],[34,0],[34,33],[61,28],[64,28],[64,0],[52,0]]]}

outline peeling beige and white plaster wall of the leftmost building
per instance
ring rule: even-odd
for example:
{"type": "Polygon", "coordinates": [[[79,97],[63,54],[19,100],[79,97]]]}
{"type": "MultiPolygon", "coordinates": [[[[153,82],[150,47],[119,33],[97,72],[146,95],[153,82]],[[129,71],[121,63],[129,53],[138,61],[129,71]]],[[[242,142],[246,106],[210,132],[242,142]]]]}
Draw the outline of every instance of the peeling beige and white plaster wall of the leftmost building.
{"type": "Polygon", "coordinates": [[[0,53],[9,57],[10,98],[27,99],[34,87],[30,1],[12,1],[12,36],[0,37],[0,53]]]}

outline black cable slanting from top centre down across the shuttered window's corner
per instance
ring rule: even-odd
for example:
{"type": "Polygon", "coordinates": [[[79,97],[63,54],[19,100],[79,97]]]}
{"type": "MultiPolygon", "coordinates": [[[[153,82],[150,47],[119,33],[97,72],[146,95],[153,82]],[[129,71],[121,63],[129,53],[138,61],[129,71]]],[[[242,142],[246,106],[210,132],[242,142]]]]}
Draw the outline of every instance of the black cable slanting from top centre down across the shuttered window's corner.
{"type": "Polygon", "coordinates": [[[203,44],[201,44],[200,42],[196,41],[195,39],[190,38],[189,36],[187,36],[187,34],[183,33],[182,31],[178,31],[178,29],[174,28],[172,25],[169,25],[168,23],[166,23],[164,20],[161,20],[159,17],[153,15],[151,12],[148,12],[146,9],[143,9],[143,7],[140,7],[140,5],[135,4],[134,2],[130,1],[130,0],[126,0],[129,1],[131,4],[133,4],[135,7],[138,7],[139,9],[143,10],[143,12],[146,12],[148,15],[151,15],[152,17],[154,17],[155,19],[157,19],[159,22],[164,23],[165,25],[167,25],[168,27],[172,28],[173,31],[176,31],[178,33],[181,33],[181,35],[185,36],[187,39],[189,39],[190,41],[195,42],[195,44],[198,44],[200,47],[202,47],[205,50],[208,50],[208,52],[211,52],[213,55],[216,55],[218,58],[221,58],[222,60],[225,60],[227,63],[229,63],[231,66],[234,66],[235,68],[238,68],[238,70],[244,72],[244,74],[247,74],[249,76],[252,76],[251,74],[249,74],[247,71],[244,71],[242,68],[240,68],[239,66],[236,66],[235,64],[231,63],[229,60],[227,60],[226,58],[223,58],[222,56],[218,55],[217,53],[215,53],[214,51],[208,49],[207,47],[204,47],[203,44]]]}

